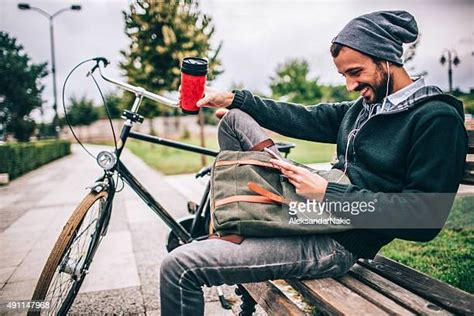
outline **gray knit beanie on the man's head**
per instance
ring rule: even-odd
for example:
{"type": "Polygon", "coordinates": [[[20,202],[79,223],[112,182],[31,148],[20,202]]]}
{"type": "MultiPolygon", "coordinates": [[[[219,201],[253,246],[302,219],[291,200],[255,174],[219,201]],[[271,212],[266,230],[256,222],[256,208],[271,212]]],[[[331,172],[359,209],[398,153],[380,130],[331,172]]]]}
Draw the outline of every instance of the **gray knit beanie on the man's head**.
{"type": "Polygon", "coordinates": [[[403,65],[403,43],[418,37],[415,18],[406,11],[377,11],[350,21],[332,40],[361,53],[403,65]]]}

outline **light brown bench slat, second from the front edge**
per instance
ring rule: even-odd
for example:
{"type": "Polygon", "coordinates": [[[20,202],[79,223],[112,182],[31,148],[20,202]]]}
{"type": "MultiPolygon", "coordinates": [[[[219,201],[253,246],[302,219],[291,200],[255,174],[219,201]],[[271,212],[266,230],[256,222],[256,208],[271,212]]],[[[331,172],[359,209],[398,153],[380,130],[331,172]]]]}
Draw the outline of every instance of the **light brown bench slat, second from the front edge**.
{"type": "Polygon", "coordinates": [[[330,315],[388,315],[334,279],[286,280],[318,311],[330,315]]]}

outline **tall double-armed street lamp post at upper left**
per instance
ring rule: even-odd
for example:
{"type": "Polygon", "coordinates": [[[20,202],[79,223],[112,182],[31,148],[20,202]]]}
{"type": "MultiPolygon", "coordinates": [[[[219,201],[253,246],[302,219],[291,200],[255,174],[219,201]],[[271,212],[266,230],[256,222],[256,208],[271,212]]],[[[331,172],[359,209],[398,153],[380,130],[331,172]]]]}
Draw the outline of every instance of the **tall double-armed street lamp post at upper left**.
{"type": "Polygon", "coordinates": [[[56,137],[59,137],[60,127],[59,127],[59,115],[58,115],[58,95],[57,95],[57,87],[56,87],[56,57],[55,57],[55,54],[54,54],[54,24],[53,24],[53,19],[56,16],[58,16],[59,14],[61,14],[62,12],[65,12],[65,11],[69,11],[69,10],[80,11],[81,6],[80,5],[71,5],[70,7],[61,9],[61,10],[57,11],[54,14],[49,14],[48,12],[46,12],[46,11],[40,9],[40,8],[32,7],[28,3],[19,3],[18,8],[20,10],[33,10],[33,11],[36,11],[36,12],[40,13],[41,15],[45,16],[46,18],[48,18],[48,20],[49,20],[49,35],[50,35],[50,42],[51,42],[51,72],[53,74],[53,96],[54,96],[53,125],[54,125],[54,129],[55,129],[56,137]]]}

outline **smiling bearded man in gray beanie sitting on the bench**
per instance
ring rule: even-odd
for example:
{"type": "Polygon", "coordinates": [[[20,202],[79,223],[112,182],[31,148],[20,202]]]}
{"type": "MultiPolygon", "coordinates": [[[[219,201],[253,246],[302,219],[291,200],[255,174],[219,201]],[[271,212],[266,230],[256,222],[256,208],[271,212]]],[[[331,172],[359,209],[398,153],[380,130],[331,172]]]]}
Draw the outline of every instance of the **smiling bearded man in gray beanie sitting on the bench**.
{"type": "MultiPolygon", "coordinates": [[[[425,85],[423,78],[409,77],[401,60],[402,44],[417,36],[416,21],[405,11],[362,15],[342,29],[330,52],[347,89],[360,92],[355,101],[305,107],[262,99],[245,90],[208,88],[198,106],[230,109],[218,128],[222,150],[269,147],[279,154],[262,127],[337,144],[338,162],[333,168],[343,171],[351,184],[328,183],[307,168],[275,160],[296,192],[306,198],[342,199],[350,193],[383,199],[377,195],[380,192],[454,197],[467,151],[462,103],[425,85]]],[[[393,203],[400,207],[390,215],[417,227],[419,216],[411,200],[400,197],[393,203]]],[[[186,244],[162,262],[162,315],[203,314],[203,285],[341,276],[358,258],[373,258],[395,238],[428,241],[440,229],[353,229],[248,237],[240,244],[220,239],[186,244]]]]}

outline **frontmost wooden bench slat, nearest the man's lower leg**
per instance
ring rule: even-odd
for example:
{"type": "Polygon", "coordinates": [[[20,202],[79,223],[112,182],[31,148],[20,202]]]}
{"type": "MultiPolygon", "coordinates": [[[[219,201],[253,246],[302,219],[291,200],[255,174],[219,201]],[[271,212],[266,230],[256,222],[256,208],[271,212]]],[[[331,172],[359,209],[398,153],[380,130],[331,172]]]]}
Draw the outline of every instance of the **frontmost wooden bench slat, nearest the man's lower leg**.
{"type": "Polygon", "coordinates": [[[270,281],[245,283],[242,286],[269,315],[305,315],[295,303],[270,281]]]}

